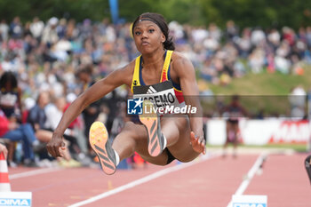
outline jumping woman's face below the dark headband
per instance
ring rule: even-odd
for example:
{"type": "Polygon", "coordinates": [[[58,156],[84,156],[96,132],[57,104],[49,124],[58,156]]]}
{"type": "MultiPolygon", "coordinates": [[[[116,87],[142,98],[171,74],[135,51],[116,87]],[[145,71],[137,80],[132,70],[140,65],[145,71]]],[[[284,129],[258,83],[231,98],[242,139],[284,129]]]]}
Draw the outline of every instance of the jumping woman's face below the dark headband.
{"type": "Polygon", "coordinates": [[[137,22],[134,28],[134,40],[140,53],[154,52],[163,48],[165,36],[156,23],[149,20],[137,22]]]}

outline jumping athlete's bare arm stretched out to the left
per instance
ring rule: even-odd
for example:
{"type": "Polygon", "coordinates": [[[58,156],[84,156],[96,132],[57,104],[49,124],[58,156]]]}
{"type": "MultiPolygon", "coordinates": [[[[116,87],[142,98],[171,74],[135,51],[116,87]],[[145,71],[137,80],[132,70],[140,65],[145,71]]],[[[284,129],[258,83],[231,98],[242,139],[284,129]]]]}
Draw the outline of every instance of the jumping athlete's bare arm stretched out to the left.
{"type": "Polygon", "coordinates": [[[96,84],[93,84],[88,90],[83,92],[78,98],[68,107],[64,115],[62,115],[60,123],[53,132],[51,141],[47,144],[48,152],[54,156],[60,155],[60,147],[63,147],[63,134],[68,128],[68,125],[80,115],[85,107],[92,102],[100,100],[109,92],[112,92],[116,87],[122,84],[130,84],[132,81],[131,68],[129,66],[117,69],[106,78],[101,79],[96,84]]]}

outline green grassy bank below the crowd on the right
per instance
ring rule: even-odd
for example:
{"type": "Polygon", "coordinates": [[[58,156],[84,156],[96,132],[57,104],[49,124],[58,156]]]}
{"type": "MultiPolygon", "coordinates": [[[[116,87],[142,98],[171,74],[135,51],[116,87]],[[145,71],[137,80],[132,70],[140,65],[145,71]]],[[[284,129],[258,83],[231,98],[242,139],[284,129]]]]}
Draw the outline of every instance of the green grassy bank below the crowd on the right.
{"type": "MultiPolygon", "coordinates": [[[[226,86],[209,84],[209,88],[225,104],[230,101],[232,94],[240,95],[242,105],[251,115],[263,111],[267,116],[288,116],[291,115],[288,95],[291,89],[298,85],[301,85],[306,92],[311,89],[311,67],[305,68],[303,76],[278,72],[248,73],[246,76],[233,79],[226,86]]],[[[206,114],[213,114],[217,108],[216,99],[203,103],[203,108],[206,114]]]]}

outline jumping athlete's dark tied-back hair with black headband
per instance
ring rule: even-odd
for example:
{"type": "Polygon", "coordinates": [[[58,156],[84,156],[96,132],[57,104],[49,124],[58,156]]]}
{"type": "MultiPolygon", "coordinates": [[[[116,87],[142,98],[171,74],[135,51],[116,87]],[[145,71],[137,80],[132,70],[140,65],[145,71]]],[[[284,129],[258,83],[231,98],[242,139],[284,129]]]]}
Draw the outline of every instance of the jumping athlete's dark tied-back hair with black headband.
{"type": "Polygon", "coordinates": [[[154,22],[163,32],[163,35],[165,36],[165,42],[163,43],[163,46],[166,50],[175,50],[175,44],[172,42],[172,36],[169,36],[170,29],[167,26],[166,21],[164,20],[163,16],[159,13],[142,13],[140,16],[134,20],[132,24],[132,35],[134,36],[134,28],[137,22],[141,20],[150,20],[154,22]]]}

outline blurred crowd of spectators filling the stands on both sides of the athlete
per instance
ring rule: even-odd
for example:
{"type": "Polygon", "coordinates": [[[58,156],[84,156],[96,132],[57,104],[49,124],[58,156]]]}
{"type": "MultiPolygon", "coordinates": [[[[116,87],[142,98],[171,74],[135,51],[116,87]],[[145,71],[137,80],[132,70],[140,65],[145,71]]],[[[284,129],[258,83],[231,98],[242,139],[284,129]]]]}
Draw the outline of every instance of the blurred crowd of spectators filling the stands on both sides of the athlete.
{"type": "MultiPolygon", "coordinates": [[[[302,75],[303,65],[311,64],[311,27],[298,31],[288,27],[240,29],[232,20],[225,29],[213,23],[204,28],[175,21],[169,27],[177,51],[193,62],[199,83],[226,85],[232,78],[264,70],[302,75]]],[[[0,75],[14,74],[18,90],[12,93],[20,94],[19,99],[12,100],[13,115],[20,124],[30,123],[34,140],[41,142],[51,139],[63,111],[77,95],[138,55],[131,22],[113,25],[106,19],[76,22],[56,17],[46,22],[37,17],[28,22],[21,22],[19,17],[0,22],[0,75]],[[44,104],[40,102],[43,96],[44,104]]],[[[207,92],[204,87],[200,89],[203,94],[207,92]]],[[[5,89],[1,92],[4,94],[5,89]]],[[[108,123],[108,130],[114,131],[114,120],[122,115],[117,108],[124,107],[126,96],[126,88],[117,89],[86,108],[70,125],[66,131],[68,151],[76,155],[75,160],[85,160],[90,154],[85,137],[95,119],[108,123]]],[[[4,101],[5,105],[5,99],[1,98],[0,104],[4,101]]]]}

